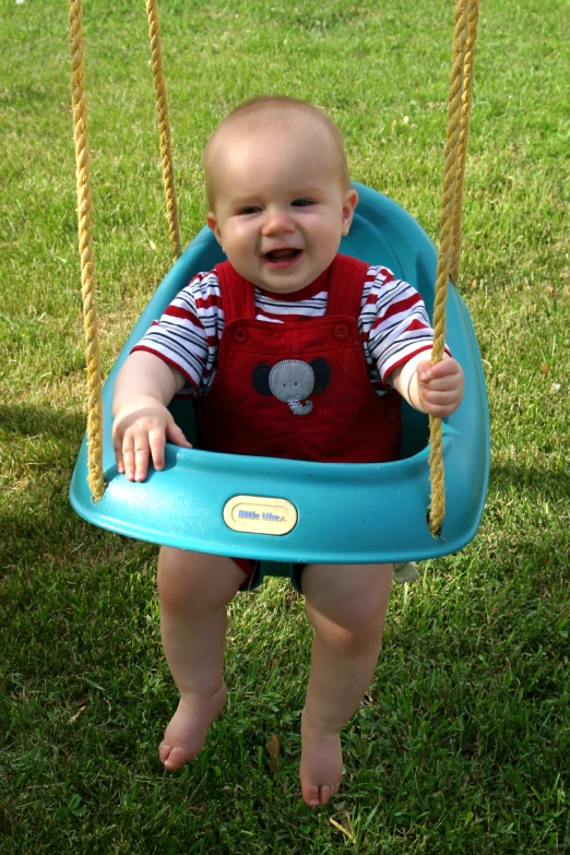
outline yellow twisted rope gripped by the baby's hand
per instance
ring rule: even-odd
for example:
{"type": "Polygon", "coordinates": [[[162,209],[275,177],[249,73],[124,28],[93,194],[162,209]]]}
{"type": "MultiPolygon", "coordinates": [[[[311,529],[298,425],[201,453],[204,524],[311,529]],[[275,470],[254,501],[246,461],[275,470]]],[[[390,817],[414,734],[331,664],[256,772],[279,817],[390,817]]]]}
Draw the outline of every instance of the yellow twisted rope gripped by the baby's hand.
{"type": "MultiPolygon", "coordinates": [[[[446,141],[446,165],[443,173],[443,198],[440,215],[439,256],[436,275],[436,299],[434,305],[434,348],[431,365],[443,357],[446,346],[446,301],[449,274],[453,254],[453,225],[458,201],[459,141],[461,129],[463,67],[467,41],[468,0],[456,0],[455,28],[453,33],[453,61],[448,104],[448,133],[446,141]]],[[[441,418],[429,416],[430,451],[429,468],[431,480],[431,507],[429,530],[437,535],[446,514],[446,486],[443,478],[443,427],[441,418]]]]}

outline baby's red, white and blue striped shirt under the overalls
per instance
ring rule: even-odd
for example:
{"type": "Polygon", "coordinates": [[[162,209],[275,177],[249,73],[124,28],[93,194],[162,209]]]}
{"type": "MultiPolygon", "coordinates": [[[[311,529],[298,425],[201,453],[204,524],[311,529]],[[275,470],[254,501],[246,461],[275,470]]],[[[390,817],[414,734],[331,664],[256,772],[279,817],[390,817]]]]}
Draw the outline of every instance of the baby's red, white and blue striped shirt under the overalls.
{"type": "MultiPolygon", "coordinates": [[[[325,282],[325,276],[319,276],[314,288],[309,285],[297,294],[270,294],[256,287],[256,319],[287,323],[321,318],[326,310],[325,282]]],[[[215,270],[198,273],[133,351],[149,351],[178,369],[188,381],[181,394],[206,395],[216,372],[224,324],[215,270]]],[[[384,394],[390,385],[392,371],[430,348],[434,337],[418,292],[378,265],[368,268],[358,330],[370,381],[378,394],[384,394]]]]}

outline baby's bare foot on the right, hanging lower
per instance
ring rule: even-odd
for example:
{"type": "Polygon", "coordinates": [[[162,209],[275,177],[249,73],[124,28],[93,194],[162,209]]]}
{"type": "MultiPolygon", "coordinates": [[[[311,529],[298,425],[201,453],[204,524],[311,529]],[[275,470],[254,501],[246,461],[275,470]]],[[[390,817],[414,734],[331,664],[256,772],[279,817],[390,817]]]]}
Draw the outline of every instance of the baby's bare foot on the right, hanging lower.
{"type": "Polygon", "coordinates": [[[299,777],[302,797],[309,807],[325,805],[341,786],[343,753],[341,735],[326,733],[301,717],[301,764],[299,777]]]}

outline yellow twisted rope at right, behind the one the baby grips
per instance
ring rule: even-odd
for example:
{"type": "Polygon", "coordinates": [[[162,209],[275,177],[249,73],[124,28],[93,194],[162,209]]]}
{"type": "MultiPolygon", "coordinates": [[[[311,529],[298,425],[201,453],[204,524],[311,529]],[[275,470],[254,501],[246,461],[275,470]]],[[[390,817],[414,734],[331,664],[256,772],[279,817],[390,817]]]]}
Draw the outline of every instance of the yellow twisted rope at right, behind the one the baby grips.
{"type": "Polygon", "coordinates": [[[479,21],[479,0],[471,0],[468,12],[467,41],[463,60],[463,94],[461,104],[461,130],[458,150],[458,189],[455,199],[455,219],[453,223],[453,256],[451,261],[450,278],[454,285],[459,284],[461,265],[461,215],[463,210],[463,180],[465,177],[465,155],[467,152],[467,139],[473,94],[473,66],[475,58],[475,41],[477,39],[477,24],[479,21]]]}

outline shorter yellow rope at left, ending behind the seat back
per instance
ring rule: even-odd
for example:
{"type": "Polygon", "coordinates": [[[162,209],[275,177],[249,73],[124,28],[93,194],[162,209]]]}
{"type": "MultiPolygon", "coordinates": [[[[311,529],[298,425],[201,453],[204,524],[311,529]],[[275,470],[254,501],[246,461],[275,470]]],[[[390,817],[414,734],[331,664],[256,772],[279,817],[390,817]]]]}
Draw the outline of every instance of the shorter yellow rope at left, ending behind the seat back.
{"type": "Polygon", "coordinates": [[[168,218],[168,234],[173,258],[181,252],[180,227],[178,225],[178,211],[174,188],[174,168],[170,147],[170,124],[168,122],[168,106],[166,103],[166,83],[163,69],[163,51],[161,47],[161,26],[158,23],[158,8],[156,0],[146,0],[146,14],[149,15],[149,37],[151,39],[151,54],[153,60],[154,88],[156,92],[156,109],[158,112],[158,132],[161,141],[161,156],[163,158],[163,182],[166,194],[166,216],[168,218]]]}

